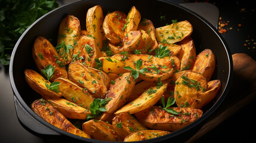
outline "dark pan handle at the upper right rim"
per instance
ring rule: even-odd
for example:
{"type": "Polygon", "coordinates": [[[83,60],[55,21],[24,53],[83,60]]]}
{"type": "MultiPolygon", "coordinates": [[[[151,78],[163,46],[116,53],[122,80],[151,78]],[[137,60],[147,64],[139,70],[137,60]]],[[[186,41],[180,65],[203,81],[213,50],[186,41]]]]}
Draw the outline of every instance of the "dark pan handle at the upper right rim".
{"type": "Polygon", "coordinates": [[[218,21],[220,17],[220,11],[214,4],[207,2],[197,2],[197,3],[182,3],[179,4],[196,14],[201,15],[205,20],[209,21],[216,29],[218,29],[218,21]]]}

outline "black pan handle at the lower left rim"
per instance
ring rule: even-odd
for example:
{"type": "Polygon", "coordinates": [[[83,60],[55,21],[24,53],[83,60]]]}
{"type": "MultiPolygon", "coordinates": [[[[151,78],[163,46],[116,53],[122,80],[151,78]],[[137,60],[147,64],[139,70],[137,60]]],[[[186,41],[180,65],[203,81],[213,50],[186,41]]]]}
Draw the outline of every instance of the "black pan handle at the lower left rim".
{"type": "Polygon", "coordinates": [[[34,135],[61,135],[58,132],[55,132],[54,130],[51,130],[47,126],[43,125],[42,123],[38,122],[35,118],[33,118],[20,104],[20,102],[17,100],[16,95],[14,97],[14,104],[16,108],[16,113],[18,116],[18,121],[21,123],[21,125],[27,129],[30,133],[33,133],[34,135]]]}

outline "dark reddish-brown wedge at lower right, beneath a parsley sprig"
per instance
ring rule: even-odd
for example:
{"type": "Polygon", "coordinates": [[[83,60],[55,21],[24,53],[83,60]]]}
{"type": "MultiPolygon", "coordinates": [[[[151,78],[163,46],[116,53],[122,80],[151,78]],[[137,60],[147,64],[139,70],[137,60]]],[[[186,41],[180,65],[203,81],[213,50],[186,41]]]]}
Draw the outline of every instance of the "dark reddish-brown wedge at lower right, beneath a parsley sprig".
{"type": "Polygon", "coordinates": [[[175,131],[194,122],[203,111],[195,108],[171,107],[178,115],[168,113],[158,106],[135,113],[137,119],[150,129],[175,131]]]}

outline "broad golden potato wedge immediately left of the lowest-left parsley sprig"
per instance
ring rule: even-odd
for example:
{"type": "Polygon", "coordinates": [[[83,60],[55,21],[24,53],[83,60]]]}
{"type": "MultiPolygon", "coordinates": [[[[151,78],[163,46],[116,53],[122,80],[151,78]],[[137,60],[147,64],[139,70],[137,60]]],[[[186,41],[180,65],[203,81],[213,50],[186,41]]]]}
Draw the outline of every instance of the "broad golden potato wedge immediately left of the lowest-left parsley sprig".
{"type": "Polygon", "coordinates": [[[55,82],[60,82],[58,90],[62,93],[64,98],[90,110],[90,105],[94,98],[87,89],[81,88],[69,79],[58,78],[55,79],[55,82]]]}

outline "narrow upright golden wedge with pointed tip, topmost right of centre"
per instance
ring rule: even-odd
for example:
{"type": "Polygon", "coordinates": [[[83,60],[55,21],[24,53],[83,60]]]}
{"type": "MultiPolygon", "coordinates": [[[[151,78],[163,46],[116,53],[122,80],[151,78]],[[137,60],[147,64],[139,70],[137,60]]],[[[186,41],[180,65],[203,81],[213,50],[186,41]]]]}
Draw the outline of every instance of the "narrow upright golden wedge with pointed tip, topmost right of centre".
{"type": "Polygon", "coordinates": [[[125,33],[135,31],[140,24],[140,12],[133,6],[127,15],[127,23],[125,23],[125,33]]]}

